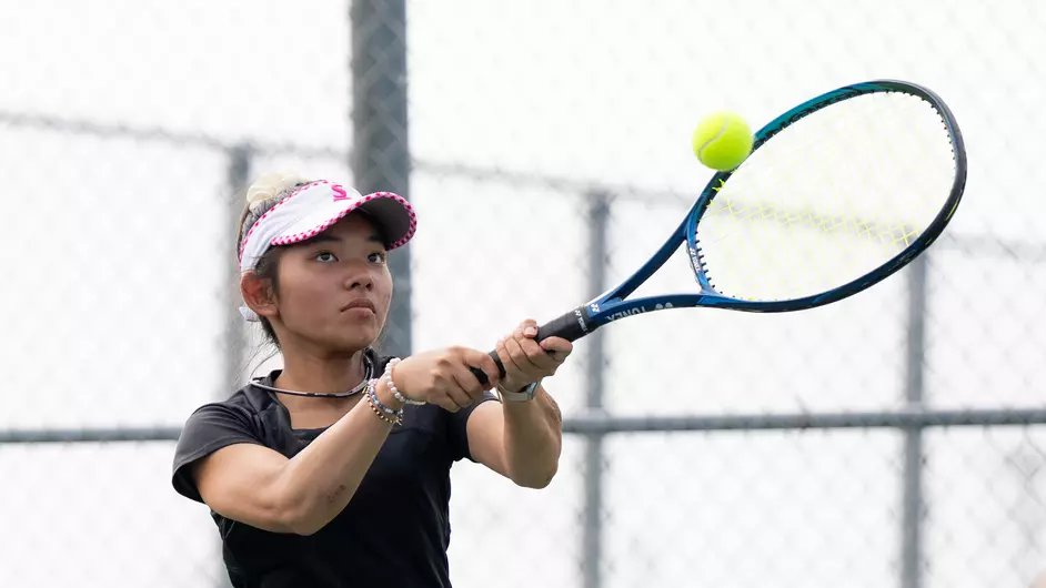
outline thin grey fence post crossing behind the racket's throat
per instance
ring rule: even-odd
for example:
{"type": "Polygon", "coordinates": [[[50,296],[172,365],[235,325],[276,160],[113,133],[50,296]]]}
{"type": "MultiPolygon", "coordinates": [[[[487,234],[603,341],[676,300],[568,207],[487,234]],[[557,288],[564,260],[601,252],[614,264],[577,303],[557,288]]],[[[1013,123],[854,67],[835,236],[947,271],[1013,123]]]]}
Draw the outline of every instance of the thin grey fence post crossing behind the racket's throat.
{"type": "MultiPolygon", "coordinates": [[[[606,230],[610,220],[610,194],[592,192],[589,194],[589,294],[590,297],[603,293],[606,282],[606,230]]],[[[589,353],[585,362],[585,406],[590,412],[603,414],[603,371],[605,356],[603,332],[596,331],[587,337],[589,353]]],[[[599,588],[602,585],[601,568],[603,555],[603,434],[590,432],[585,435],[585,478],[584,478],[584,527],[582,533],[582,576],[584,588],[599,588]]]]}

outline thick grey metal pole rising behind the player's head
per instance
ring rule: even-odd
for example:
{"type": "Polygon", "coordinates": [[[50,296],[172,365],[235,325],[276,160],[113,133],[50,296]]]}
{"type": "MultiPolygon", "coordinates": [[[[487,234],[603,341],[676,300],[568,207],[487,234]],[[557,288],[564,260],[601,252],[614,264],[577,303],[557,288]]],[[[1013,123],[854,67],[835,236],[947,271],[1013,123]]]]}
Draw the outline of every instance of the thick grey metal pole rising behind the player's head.
{"type": "MultiPolygon", "coordinates": [[[[406,4],[404,0],[353,0],[351,156],[362,193],[390,191],[409,199],[406,120],[406,4]]],[[[389,258],[395,291],[382,351],[411,353],[411,257],[408,246],[389,258]]]]}

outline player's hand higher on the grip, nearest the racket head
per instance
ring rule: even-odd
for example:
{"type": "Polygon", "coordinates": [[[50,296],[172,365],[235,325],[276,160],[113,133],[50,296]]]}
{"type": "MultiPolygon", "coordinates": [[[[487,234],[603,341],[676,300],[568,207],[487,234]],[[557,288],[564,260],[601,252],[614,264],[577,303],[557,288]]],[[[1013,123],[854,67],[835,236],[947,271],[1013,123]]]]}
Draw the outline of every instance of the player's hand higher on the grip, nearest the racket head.
{"type": "MultiPolygon", "coordinates": [[[[504,389],[517,392],[555,374],[574,349],[565,338],[549,337],[539,343],[534,341],[536,335],[537,323],[526,320],[511,335],[497,342],[497,357],[505,366],[505,377],[501,382],[504,389]]],[[[486,372],[485,368],[483,371],[486,372]]]]}

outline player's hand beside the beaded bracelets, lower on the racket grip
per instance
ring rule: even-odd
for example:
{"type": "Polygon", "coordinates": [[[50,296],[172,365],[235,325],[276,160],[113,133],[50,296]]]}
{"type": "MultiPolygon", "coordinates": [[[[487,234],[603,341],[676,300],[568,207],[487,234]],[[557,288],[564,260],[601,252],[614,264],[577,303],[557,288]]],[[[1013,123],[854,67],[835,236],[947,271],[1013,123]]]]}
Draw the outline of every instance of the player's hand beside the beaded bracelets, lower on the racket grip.
{"type": "Polygon", "coordinates": [[[393,367],[392,383],[400,394],[412,401],[424,401],[456,413],[483,396],[486,389],[472,375],[473,366],[486,374],[491,386],[501,379],[497,365],[486,353],[447,347],[406,357],[393,367]]]}

